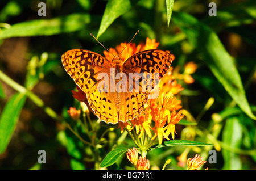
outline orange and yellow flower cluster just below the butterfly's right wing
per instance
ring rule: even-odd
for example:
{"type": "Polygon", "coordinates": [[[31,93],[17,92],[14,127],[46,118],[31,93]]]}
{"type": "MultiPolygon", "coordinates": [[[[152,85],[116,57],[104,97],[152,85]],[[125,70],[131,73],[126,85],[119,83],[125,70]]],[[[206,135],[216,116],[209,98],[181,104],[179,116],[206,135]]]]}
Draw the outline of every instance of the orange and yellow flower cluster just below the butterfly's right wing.
{"type": "Polygon", "coordinates": [[[171,134],[174,139],[175,124],[184,117],[181,115],[180,101],[176,101],[173,96],[164,96],[163,99],[149,99],[148,106],[142,111],[141,115],[126,123],[119,122],[121,132],[126,128],[132,131],[135,128],[138,138],[141,138],[146,132],[152,140],[158,137],[159,144],[162,144],[163,138],[169,140],[171,134]],[[154,134],[154,136],[152,136],[154,134]]]}

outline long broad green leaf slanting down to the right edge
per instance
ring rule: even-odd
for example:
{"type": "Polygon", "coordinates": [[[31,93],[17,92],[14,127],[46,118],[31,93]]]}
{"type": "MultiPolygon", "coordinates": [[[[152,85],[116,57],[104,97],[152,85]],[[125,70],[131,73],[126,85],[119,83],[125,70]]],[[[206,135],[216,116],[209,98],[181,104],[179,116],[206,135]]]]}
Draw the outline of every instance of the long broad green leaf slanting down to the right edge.
{"type": "Polygon", "coordinates": [[[174,12],[173,20],[187,35],[188,40],[241,110],[256,120],[247,102],[233,59],[226,52],[216,33],[189,14],[174,12]]]}

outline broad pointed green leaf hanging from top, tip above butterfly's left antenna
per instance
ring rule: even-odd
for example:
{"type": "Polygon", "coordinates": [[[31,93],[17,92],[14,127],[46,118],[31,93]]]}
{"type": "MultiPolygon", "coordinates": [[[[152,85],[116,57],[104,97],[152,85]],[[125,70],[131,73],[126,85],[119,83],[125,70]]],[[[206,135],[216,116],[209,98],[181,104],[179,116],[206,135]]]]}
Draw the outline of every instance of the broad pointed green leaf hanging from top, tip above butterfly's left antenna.
{"type": "Polygon", "coordinates": [[[130,10],[135,3],[137,3],[137,1],[134,0],[109,0],[102,16],[97,39],[106,31],[106,29],[114,22],[115,19],[130,10]]]}

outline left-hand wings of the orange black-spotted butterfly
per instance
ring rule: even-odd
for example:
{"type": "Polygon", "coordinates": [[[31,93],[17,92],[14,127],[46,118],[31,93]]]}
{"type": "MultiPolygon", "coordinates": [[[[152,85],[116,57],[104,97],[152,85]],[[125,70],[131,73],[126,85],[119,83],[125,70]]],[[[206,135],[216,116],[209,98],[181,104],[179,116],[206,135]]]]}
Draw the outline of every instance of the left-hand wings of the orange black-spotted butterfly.
{"type": "Polygon", "coordinates": [[[98,53],[84,49],[73,49],[61,57],[62,64],[76,85],[86,93],[90,107],[106,123],[118,123],[114,93],[98,90],[100,73],[110,75],[111,64],[98,53]]]}

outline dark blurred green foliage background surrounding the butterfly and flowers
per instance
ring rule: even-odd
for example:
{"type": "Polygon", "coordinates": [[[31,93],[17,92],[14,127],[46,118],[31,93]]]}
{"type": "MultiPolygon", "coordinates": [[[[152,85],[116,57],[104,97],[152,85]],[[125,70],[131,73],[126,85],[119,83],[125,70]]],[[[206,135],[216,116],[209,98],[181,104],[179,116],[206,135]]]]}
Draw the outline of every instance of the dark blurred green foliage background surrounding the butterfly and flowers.
{"type": "MultiPolygon", "coordinates": [[[[182,72],[190,61],[198,66],[195,83],[179,82],[184,87],[179,99],[197,124],[183,121],[176,138],[194,132],[195,141],[214,146],[189,147],[188,156],[200,153],[207,161],[208,151],[216,149],[217,163],[206,163],[209,169],[256,168],[254,0],[48,0],[42,1],[46,16],[38,15],[39,2],[0,2],[0,169],[93,169],[93,153],[103,159],[113,148],[134,146],[119,129],[105,134],[112,128],[98,123],[104,137],[97,149],[67,129],[65,123],[84,133],[67,113],[79,103],[72,98],[75,83],[61,65],[61,54],[75,48],[103,54],[90,33],[109,48],[129,41],[137,30],[133,41],[156,39],[159,49],[175,54],[174,68],[182,72]],[[216,3],[217,16],[209,16],[210,2],[216,3]],[[210,97],[214,103],[205,108],[210,97]],[[38,163],[40,149],[46,150],[47,164],[38,163]]],[[[166,169],[182,169],[176,158],[184,150],[156,149],[147,159],[162,168],[171,158],[166,169]]],[[[122,158],[110,169],[127,169],[122,158]]]]}

